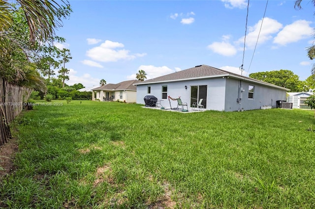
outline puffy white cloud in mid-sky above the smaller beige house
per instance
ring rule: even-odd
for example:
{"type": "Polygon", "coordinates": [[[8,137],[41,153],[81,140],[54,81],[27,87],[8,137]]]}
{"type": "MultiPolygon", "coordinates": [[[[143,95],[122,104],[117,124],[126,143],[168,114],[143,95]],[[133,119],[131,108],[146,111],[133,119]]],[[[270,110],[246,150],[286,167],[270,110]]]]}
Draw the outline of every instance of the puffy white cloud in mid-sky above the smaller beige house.
{"type": "Polygon", "coordinates": [[[106,40],[98,47],[94,47],[86,52],[91,59],[99,62],[116,62],[118,60],[131,60],[136,57],[145,56],[146,53],[130,54],[130,51],[116,48],[124,48],[124,44],[106,40]]]}

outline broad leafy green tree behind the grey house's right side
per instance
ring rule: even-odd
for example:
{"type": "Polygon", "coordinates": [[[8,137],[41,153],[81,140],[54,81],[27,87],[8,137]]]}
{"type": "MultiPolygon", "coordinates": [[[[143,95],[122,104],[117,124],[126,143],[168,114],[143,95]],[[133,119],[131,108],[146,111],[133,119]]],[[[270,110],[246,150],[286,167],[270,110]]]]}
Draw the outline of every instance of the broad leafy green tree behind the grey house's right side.
{"type": "Polygon", "coordinates": [[[297,75],[289,70],[252,73],[249,77],[288,88],[292,92],[303,91],[303,82],[299,80],[297,75]]]}

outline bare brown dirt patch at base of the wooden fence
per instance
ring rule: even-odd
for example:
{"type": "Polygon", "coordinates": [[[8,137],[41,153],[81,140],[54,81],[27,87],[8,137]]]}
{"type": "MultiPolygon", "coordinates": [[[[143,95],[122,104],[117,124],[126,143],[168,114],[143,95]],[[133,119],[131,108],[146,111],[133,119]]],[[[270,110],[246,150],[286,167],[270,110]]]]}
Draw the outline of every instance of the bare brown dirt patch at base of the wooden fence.
{"type": "Polygon", "coordinates": [[[15,170],[13,159],[18,151],[15,138],[9,139],[4,146],[0,147],[0,179],[15,170]]]}

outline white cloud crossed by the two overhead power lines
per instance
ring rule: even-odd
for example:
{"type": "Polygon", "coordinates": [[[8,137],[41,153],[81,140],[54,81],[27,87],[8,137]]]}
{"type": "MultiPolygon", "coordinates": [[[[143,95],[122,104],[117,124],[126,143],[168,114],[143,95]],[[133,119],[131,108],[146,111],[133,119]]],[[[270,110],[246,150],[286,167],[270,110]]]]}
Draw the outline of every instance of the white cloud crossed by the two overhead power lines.
{"type": "MultiPolygon", "coordinates": [[[[262,19],[259,20],[254,26],[249,27],[249,33],[246,35],[246,46],[253,48],[256,45],[258,34],[259,39],[257,44],[262,44],[272,39],[272,34],[277,33],[282,27],[281,23],[271,18],[264,18],[263,22],[262,19]]],[[[239,38],[236,44],[244,44],[244,36],[239,38]]]]}

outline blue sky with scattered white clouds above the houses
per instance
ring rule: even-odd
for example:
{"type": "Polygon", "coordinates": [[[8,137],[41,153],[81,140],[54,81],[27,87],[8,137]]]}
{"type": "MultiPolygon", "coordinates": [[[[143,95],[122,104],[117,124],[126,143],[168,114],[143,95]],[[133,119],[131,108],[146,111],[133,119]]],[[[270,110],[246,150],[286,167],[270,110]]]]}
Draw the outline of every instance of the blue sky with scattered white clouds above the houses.
{"type": "MultiPolygon", "coordinates": [[[[139,70],[149,79],[201,64],[240,74],[247,2],[69,0],[73,13],[56,31],[66,39],[56,46],[73,57],[66,83],[118,83],[139,70]]],[[[243,75],[284,69],[305,80],[313,64],[306,48],[314,40],[314,6],[303,0],[295,10],[293,0],[269,0],[263,19],[266,3],[250,0],[243,75]]]]}

